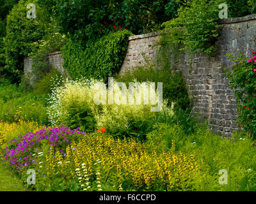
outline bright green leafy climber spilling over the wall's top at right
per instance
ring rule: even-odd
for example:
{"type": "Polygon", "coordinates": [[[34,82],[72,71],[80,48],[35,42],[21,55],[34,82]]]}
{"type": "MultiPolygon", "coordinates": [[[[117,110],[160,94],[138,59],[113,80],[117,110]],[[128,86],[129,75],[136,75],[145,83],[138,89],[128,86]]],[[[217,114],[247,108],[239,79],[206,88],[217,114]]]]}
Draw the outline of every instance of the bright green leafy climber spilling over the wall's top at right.
{"type": "Polygon", "coordinates": [[[179,27],[182,50],[188,50],[190,54],[205,52],[214,55],[219,36],[218,25],[219,9],[221,1],[191,0],[186,1],[178,11],[177,18],[165,22],[165,29],[179,27]]]}

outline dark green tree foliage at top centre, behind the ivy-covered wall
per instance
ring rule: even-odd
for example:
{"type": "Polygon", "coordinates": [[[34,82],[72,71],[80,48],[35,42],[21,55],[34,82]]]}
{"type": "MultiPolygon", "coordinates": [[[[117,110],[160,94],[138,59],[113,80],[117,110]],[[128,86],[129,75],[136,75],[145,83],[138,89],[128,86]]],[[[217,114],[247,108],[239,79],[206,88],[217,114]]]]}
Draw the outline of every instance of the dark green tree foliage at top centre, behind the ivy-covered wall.
{"type": "Polygon", "coordinates": [[[155,31],[175,16],[179,0],[42,0],[40,5],[56,18],[61,33],[72,40],[86,41],[108,34],[115,27],[134,34],[155,31]]]}

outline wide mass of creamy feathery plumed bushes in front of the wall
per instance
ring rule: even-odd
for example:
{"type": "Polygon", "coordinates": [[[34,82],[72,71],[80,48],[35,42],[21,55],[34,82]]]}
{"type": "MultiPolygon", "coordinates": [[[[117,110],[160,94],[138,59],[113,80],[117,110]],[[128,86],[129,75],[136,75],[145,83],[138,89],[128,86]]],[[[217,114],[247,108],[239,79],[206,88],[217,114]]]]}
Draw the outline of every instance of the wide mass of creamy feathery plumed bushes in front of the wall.
{"type": "MultiPolygon", "coordinates": [[[[88,80],[71,81],[54,89],[48,108],[51,123],[68,124],[71,128],[80,127],[86,131],[104,127],[109,133],[120,137],[145,136],[157,114],[151,111],[155,105],[143,105],[142,100],[141,105],[96,105],[95,97],[100,91],[97,83],[88,80]]],[[[120,91],[116,83],[113,90],[115,94],[120,91]]],[[[127,95],[121,94],[119,97],[125,99],[127,95]]]]}

